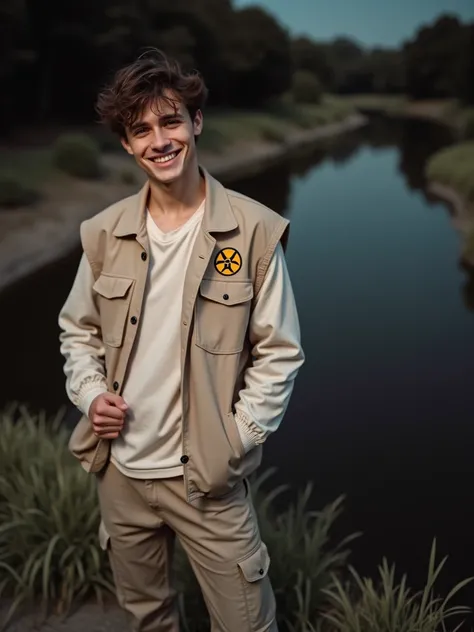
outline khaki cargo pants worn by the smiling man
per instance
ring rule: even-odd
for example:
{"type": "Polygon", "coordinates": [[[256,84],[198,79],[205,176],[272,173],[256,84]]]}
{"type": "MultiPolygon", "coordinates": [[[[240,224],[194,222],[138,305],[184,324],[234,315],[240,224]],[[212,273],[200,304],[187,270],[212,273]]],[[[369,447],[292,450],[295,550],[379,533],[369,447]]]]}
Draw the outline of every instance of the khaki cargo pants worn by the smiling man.
{"type": "Polygon", "coordinates": [[[212,632],[277,632],[270,560],[246,482],[197,507],[186,502],[182,477],[132,479],[110,463],[97,480],[101,546],[109,550],[117,598],[134,632],[179,632],[175,537],[201,587],[212,632]]]}

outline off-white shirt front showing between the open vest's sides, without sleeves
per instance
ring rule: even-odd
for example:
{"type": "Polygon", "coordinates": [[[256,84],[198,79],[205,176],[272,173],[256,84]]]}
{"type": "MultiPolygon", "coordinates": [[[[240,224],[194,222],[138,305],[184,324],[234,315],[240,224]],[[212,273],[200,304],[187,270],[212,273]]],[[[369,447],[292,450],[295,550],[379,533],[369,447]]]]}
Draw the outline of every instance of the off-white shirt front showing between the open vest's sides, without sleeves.
{"type": "Polygon", "coordinates": [[[181,309],[189,257],[204,202],[175,230],[164,233],[147,211],[150,260],[137,343],[122,393],[125,428],[112,442],[112,461],[132,478],[180,476],[181,309]]]}

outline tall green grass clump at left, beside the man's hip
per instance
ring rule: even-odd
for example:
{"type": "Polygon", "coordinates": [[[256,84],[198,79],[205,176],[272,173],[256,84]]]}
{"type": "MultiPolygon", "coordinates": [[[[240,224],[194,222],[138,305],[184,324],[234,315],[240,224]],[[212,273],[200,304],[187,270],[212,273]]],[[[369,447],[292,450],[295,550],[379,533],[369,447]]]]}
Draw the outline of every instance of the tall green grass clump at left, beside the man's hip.
{"type": "Polygon", "coordinates": [[[0,433],[0,597],[11,606],[40,600],[44,613],[113,592],[98,542],[94,479],[67,450],[62,415],[3,411],[0,433]]]}

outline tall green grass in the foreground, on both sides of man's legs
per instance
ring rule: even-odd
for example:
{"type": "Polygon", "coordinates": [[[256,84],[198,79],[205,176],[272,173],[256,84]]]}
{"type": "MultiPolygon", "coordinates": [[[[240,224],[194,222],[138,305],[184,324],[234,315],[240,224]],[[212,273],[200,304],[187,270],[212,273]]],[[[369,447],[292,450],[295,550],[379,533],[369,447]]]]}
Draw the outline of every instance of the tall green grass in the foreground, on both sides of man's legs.
{"type": "MultiPolygon", "coordinates": [[[[0,431],[0,621],[3,615],[6,625],[27,603],[46,615],[66,614],[78,601],[106,601],[113,586],[98,542],[94,479],[69,454],[61,415],[50,421],[12,407],[1,413],[0,431]]],[[[398,580],[386,561],[378,573],[374,569],[377,580],[372,582],[348,566],[356,534],[339,542],[332,536],[343,498],[313,511],[310,485],[292,499],[288,488],[269,486],[270,478],[265,472],[253,480],[252,495],[271,555],[282,632],[439,632],[453,630],[467,616],[468,610],[451,606],[451,598],[469,580],[448,598],[438,598],[435,583],[444,561],[436,564],[434,546],[422,593],[410,590],[406,577],[398,580]],[[278,513],[275,499],[282,494],[286,510],[278,513]],[[442,627],[448,623],[452,627],[442,627]]],[[[185,629],[208,630],[204,603],[181,549],[176,573],[185,629]]],[[[97,620],[88,620],[84,608],[81,629],[95,629],[97,620]]],[[[21,620],[16,625],[26,629],[21,620]]],[[[127,630],[125,624],[114,629],[127,630]]]]}

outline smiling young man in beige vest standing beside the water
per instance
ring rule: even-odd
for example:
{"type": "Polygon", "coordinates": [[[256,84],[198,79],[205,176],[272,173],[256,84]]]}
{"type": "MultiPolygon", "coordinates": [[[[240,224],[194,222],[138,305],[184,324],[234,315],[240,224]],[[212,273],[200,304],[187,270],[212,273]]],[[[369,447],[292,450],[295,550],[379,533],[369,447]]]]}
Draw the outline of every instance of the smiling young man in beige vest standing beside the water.
{"type": "Polygon", "coordinates": [[[147,175],[81,225],[61,310],[70,441],[95,473],[101,545],[134,630],[178,632],[174,538],[213,632],[275,631],[247,477],[303,363],[288,221],[198,164],[205,85],[164,56],[119,71],[102,120],[147,175]]]}

